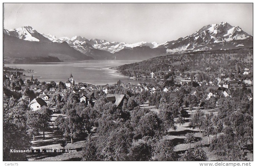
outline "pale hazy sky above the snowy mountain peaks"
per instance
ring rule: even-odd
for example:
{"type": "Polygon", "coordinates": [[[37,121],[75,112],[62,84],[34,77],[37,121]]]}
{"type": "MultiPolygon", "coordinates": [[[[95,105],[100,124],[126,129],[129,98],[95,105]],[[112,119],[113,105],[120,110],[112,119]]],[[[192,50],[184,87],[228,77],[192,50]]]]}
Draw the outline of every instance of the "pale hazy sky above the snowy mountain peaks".
{"type": "Polygon", "coordinates": [[[228,22],[253,35],[253,4],[4,4],[4,28],[31,26],[56,37],[135,43],[177,40],[228,22]]]}

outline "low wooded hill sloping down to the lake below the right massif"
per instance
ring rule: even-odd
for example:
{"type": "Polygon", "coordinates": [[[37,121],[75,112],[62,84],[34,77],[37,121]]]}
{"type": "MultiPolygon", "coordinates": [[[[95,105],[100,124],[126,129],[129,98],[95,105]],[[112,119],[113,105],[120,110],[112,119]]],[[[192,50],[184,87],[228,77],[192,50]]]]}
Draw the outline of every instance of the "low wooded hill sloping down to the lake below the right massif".
{"type": "Polygon", "coordinates": [[[113,69],[125,76],[151,76],[151,72],[155,73],[155,76],[163,76],[169,69],[181,72],[242,73],[244,68],[253,70],[253,48],[160,56],[113,69]]]}

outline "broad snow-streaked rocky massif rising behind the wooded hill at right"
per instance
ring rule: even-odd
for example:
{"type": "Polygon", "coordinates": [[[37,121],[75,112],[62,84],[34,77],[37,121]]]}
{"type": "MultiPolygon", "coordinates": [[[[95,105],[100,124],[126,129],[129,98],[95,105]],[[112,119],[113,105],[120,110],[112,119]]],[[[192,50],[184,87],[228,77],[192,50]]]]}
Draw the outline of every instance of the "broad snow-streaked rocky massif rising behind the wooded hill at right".
{"type": "Polygon", "coordinates": [[[169,41],[165,44],[160,44],[159,47],[167,48],[169,53],[183,53],[194,52],[211,49],[224,49],[222,47],[229,47],[225,49],[232,49],[236,47],[236,43],[243,47],[243,43],[250,43],[252,45],[252,36],[244,32],[238,26],[231,26],[227,22],[220,24],[210,24],[202,27],[192,35],[184,38],[179,38],[176,41],[169,41]],[[251,42],[250,42],[251,41],[251,42]],[[228,44],[227,44],[228,43],[228,44]],[[188,45],[189,44],[189,45],[188,45]]]}

